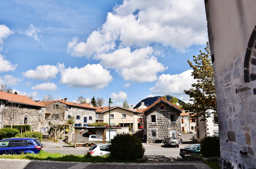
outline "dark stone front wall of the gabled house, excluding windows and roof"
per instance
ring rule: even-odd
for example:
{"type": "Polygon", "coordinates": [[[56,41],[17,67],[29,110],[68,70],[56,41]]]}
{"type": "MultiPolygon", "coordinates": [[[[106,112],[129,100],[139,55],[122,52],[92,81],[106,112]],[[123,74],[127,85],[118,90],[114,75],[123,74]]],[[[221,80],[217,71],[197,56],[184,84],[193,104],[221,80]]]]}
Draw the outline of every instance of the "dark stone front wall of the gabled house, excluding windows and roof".
{"type": "Polygon", "coordinates": [[[170,130],[176,130],[176,137],[178,139],[181,138],[178,136],[178,133],[181,131],[181,111],[167,103],[164,103],[165,110],[160,110],[161,104],[163,103],[164,102],[160,102],[156,104],[153,108],[146,112],[144,128],[147,134],[147,143],[153,143],[153,140],[151,139],[151,130],[156,130],[156,137],[158,140],[164,139],[165,137],[170,137],[170,130]],[[156,124],[151,124],[151,115],[156,115],[156,124]],[[170,123],[170,115],[175,115],[175,124],[170,123]]]}

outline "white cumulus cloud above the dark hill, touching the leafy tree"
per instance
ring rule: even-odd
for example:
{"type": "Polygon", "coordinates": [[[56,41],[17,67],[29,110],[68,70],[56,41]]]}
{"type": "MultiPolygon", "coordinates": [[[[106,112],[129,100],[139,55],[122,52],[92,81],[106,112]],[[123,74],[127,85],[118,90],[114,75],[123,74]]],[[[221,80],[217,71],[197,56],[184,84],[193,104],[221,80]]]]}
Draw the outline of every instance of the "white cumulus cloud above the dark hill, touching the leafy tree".
{"type": "Polygon", "coordinates": [[[195,83],[196,80],[191,76],[193,70],[187,70],[181,74],[170,75],[162,74],[159,76],[159,80],[156,82],[155,86],[150,88],[153,94],[164,95],[167,93],[170,95],[184,94],[184,90],[189,90],[191,84],[195,83]]]}

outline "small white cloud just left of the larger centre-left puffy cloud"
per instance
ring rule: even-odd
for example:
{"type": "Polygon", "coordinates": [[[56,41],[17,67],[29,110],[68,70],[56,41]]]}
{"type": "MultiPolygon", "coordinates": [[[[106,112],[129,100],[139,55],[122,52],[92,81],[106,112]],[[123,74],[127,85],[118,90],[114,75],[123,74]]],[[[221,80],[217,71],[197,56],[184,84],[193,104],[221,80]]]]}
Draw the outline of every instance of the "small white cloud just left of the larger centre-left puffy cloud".
{"type": "Polygon", "coordinates": [[[50,80],[56,77],[56,74],[59,72],[57,66],[54,65],[40,65],[35,68],[35,70],[28,70],[27,72],[22,73],[24,77],[32,78],[35,80],[50,80]]]}

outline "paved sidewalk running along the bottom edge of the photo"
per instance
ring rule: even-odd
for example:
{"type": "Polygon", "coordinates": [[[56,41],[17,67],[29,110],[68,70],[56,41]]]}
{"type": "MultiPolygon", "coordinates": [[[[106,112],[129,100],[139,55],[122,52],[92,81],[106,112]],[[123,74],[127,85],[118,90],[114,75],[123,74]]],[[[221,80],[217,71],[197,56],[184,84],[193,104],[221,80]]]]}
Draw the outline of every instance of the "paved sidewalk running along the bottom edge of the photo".
{"type": "Polygon", "coordinates": [[[165,163],[82,163],[40,160],[0,159],[0,169],[210,169],[200,161],[165,163]]]}

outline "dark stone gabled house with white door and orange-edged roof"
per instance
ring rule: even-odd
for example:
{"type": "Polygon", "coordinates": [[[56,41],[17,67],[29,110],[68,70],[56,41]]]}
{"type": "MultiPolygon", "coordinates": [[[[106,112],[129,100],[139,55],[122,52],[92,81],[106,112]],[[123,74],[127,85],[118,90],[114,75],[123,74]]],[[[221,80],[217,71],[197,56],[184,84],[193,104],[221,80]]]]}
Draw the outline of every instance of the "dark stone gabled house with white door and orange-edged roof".
{"type": "Polygon", "coordinates": [[[161,97],[143,112],[147,143],[153,143],[165,137],[181,138],[180,114],[183,110],[180,107],[161,97]]]}

